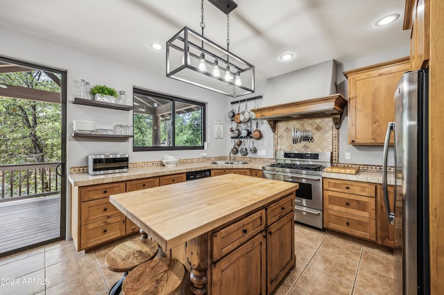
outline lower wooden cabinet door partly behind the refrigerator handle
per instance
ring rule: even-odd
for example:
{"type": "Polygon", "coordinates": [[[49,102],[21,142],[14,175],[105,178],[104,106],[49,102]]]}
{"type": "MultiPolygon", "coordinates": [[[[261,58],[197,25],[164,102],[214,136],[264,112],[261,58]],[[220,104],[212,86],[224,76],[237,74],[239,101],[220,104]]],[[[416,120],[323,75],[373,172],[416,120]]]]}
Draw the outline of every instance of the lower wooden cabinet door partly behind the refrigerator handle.
{"type": "MultiPolygon", "coordinates": [[[[394,186],[388,186],[388,204],[390,204],[391,210],[395,204],[395,188],[394,186]]],[[[395,239],[395,226],[388,224],[388,218],[386,213],[386,205],[384,202],[384,192],[382,186],[377,186],[376,194],[376,240],[378,244],[382,244],[388,247],[393,247],[395,239]]],[[[397,214],[398,217],[398,214],[397,214]]]]}

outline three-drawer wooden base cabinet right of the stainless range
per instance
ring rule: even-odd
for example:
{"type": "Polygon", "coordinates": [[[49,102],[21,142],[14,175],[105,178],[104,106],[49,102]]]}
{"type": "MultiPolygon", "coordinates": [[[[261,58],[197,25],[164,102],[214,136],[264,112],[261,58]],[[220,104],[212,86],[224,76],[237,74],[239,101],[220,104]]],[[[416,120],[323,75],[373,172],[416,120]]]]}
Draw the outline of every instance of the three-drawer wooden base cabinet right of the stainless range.
{"type": "Polygon", "coordinates": [[[376,241],[376,184],[323,179],[324,227],[376,241]]]}

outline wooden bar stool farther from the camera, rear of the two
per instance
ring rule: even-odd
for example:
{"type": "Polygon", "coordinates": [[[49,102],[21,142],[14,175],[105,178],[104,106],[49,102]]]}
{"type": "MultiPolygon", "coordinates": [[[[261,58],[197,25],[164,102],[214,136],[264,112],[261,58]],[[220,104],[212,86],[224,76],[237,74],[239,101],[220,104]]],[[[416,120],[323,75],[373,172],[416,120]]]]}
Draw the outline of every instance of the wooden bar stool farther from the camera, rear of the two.
{"type": "Polygon", "coordinates": [[[142,233],[140,240],[123,242],[114,247],[105,257],[108,269],[111,271],[125,271],[123,277],[112,286],[108,294],[119,294],[122,283],[128,276],[128,271],[155,257],[158,249],[157,242],[145,237],[146,235],[142,233]]]}

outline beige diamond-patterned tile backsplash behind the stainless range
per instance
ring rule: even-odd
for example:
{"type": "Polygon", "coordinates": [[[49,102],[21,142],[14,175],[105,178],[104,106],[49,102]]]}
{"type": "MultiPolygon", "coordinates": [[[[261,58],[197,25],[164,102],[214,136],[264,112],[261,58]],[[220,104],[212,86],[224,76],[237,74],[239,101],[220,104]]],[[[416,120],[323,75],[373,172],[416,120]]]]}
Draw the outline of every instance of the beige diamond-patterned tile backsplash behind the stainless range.
{"type": "Polygon", "coordinates": [[[334,124],[331,117],[280,121],[276,124],[275,150],[333,152],[333,133],[334,124]],[[313,132],[314,142],[302,141],[293,144],[293,128],[313,132]]]}

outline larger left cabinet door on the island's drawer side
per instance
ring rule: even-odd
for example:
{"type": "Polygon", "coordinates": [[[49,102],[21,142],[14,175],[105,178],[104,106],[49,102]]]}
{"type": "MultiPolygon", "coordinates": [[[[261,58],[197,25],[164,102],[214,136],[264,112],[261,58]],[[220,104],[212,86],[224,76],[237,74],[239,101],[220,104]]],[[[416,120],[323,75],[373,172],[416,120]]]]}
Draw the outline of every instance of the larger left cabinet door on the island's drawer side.
{"type": "Polygon", "coordinates": [[[212,294],[266,294],[264,232],[212,264],[212,294]]]}

